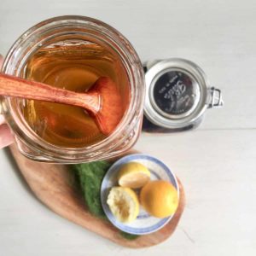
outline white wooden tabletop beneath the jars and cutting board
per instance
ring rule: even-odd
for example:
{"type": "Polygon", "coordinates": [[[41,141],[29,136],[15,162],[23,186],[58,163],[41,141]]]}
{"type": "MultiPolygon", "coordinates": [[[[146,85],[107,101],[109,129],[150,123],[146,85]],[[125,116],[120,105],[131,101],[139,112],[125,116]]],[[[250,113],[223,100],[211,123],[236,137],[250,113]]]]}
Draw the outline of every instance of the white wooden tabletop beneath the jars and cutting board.
{"type": "Polygon", "coordinates": [[[49,211],[0,150],[0,255],[256,255],[256,2],[1,0],[0,52],[38,21],[72,14],[116,27],[143,61],[195,61],[225,105],[196,131],[143,134],[135,147],[165,161],[186,191],[177,230],[155,247],[119,247],[49,211]]]}

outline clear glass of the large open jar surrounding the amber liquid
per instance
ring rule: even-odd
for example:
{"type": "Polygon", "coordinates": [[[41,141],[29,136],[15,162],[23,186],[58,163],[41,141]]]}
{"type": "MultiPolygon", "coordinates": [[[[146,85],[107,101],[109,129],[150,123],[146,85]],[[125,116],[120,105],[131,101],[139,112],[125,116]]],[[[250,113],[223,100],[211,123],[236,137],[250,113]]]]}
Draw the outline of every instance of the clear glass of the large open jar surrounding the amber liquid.
{"type": "Polygon", "coordinates": [[[84,148],[55,146],[39,137],[20,113],[18,99],[1,98],[2,112],[21,152],[32,160],[79,163],[103,160],[124,153],[136,143],[143,119],[144,73],[141,61],[131,43],[113,27],[83,16],[61,16],[45,20],[26,31],[9,50],[3,62],[3,73],[24,77],[26,61],[38,49],[49,44],[67,44],[68,40],[90,38],[111,47],[125,67],[130,82],[130,103],[115,131],[102,141],[84,148]]]}

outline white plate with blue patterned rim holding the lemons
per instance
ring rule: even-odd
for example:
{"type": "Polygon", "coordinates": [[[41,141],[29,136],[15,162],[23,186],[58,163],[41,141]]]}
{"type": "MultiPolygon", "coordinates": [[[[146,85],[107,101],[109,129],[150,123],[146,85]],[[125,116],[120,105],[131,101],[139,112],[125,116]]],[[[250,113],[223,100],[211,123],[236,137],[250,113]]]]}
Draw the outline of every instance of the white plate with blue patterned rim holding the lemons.
{"type": "MultiPolygon", "coordinates": [[[[177,189],[177,195],[179,197],[178,183],[175,175],[163,162],[148,154],[126,155],[116,161],[113,166],[109,168],[107,174],[103,178],[101,189],[101,200],[104,212],[106,213],[109,221],[119,230],[135,235],[146,235],[160,230],[172,219],[173,215],[167,218],[155,218],[149,215],[148,212],[145,212],[143,207],[140,207],[140,212],[137,218],[131,223],[124,224],[120,223],[113,216],[113,213],[110,211],[107,204],[109,190],[113,188],[113,186],[118,185],[117,176],[120,167],[131,161],[136,161],[147,166],[148,170],[151,172],[151,180],[166,180],[172,183],[172,185],[177,189]]],[[[136,192],[139,193],[139,189],[137,189],[136,192]]]]}

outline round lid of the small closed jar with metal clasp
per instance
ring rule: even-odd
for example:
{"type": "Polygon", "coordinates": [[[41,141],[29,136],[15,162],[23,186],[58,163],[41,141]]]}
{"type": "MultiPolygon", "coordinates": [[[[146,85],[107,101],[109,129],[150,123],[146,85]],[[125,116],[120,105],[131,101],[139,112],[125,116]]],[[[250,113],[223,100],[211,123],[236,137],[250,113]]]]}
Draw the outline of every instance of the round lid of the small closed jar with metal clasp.
{"type": "Polygon", "coordinates": [[[148,65],[144,113],[154,124],[183,128],[195,122],[209,105],[205,73],[183,59],[155,61],[148,65]]]}

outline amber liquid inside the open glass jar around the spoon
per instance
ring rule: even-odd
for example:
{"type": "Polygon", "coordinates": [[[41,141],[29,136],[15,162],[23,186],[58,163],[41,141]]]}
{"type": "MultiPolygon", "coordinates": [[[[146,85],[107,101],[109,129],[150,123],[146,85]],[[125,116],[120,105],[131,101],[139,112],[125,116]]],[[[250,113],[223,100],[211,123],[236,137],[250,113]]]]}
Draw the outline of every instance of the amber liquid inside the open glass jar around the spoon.
{"type": "MultiPolygon", "coordinates": [[[[66,90],[84,92],[100,77],[108,77],[119,88],[122,109],[129,104],[129,80],[119,57],[110,49],[90,42],[55,44],[26,62],[25,78],[66,90]]],[[[105,135],[83,108],[59,103],[24,101],[22,113],[27,124],[48,143],[80,148],[97,143],[105,135]]]]}

